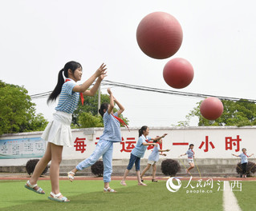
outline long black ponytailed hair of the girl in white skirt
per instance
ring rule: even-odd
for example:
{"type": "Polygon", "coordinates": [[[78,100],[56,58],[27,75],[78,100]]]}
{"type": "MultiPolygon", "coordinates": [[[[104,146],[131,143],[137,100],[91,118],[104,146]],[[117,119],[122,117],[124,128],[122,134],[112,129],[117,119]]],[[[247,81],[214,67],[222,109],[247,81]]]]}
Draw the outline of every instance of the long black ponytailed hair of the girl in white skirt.
{"type": "Polygon", "coordinates": [[[63,75],[65,76],[65,78],[68,78],[67,71],[71,70],[71,72],[74,74],[75,70],[78,68],[82,68],[79,62],[71,61],[67,62],[67,64],[63,67],[62,70],[59,70],[57,85],[55,86],[55,89],[52,91],[49,98],[47,99],[47,103],[54,102],[56,98],[58,98],[63,87],[63,83],[65,82],[63,75]]]}

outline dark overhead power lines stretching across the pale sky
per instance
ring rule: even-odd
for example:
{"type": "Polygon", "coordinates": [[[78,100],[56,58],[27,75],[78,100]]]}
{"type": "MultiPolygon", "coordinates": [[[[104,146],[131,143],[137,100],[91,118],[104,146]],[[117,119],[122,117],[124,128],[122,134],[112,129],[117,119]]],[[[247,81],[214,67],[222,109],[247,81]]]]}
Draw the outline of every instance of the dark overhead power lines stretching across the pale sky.
{"type": "MultiPolygon", "coordinates": [[[[92,84],[92,85],[94,85],[94,84],[92,84]]],[[[161,93],[161,94],[173,94],[173,95],[193,97],[193,98],[214,97],[214,98],[219,98],[221,100],[226,100],[226,101],[233,101],[233,102],[242,101],[242,102],[256,103],[256,100],[254,100],[254,99],[244,99],[244,98],[241,99],[241,98],[224,97],[224,96],[210,95],[210,94],[197,94],[197,93],[181,92],[181,91],[176,91],[176,90],[165,90],[165,89],[159,89],[156,87],[136,86],[136,85],[132,85],[132,84],[112,82],[112,81],[108,81],[108,80],[104,80],[104,82],[101,83],[101,86],[117,86],[117,87],[122,87],[122,88],[126,88],[126,89],[132,89],[132,90],[142,90],[142,91],[156,92],[156,93],[161,93]]],[[[31,99],[45,98],[49,94],[51,94],[51,91],[44,92],[41,94],[32,94],[32,95],[30,95],[30,98],[31,99]]]]}

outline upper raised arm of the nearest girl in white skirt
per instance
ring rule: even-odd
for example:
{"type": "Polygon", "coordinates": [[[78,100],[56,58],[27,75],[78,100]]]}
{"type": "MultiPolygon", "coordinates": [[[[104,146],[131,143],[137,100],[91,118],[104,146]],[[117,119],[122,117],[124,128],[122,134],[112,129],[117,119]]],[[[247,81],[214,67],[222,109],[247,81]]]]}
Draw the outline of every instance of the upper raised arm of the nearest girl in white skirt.
{"type": "Polygon", "coordinates": [[[105,75],[106,74],[106,70],[107,68],[105,68],[106,65],[104,65],[104,63],[100,66],[100,68],[98,70],[96,70],[95,74],[91,75],[91,77],[89,79],[87,79],[87,81],[83,82],[82,85],[80,86],[74,86],[73,91],[74,92],[80,92],[80,93],[84,93],[90,86],[91,84],[95,81],[96,78],[100,77],[100,75],[105,75]]]}

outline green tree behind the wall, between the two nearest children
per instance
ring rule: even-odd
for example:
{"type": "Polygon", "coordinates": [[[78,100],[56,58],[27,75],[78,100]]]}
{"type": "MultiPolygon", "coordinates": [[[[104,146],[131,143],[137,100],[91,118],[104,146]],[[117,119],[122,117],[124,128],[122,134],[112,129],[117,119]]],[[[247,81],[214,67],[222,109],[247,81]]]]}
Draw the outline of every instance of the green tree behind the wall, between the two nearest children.
{"type": "MultiPolygon", "coordinates": [[[[100,94],[100,102],[109,103],[108,94],[100,94]]],[[[117,109],[114,108],[114,112],[117,109]]],[[[120,115],[120,118],[128,125],[128,119],[120,115]]],[[[72,128],[89,128],[89,127],[103,127],[104,122],[101,116],[98,116],[98,92],[95,96],[85,97],[83,106],[79,101],[77,109],[72,114],[72,128]]],[[[121,125],[122,126],[122,125],[121,125]]]]}

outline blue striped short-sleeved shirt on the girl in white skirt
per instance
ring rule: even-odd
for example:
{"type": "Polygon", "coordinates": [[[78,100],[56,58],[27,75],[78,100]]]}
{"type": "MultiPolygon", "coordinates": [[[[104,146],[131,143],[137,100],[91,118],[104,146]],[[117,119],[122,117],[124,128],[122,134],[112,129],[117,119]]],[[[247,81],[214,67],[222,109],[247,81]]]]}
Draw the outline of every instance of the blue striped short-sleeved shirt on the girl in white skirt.
{"type": "Polygon", "coordinates": [[[66,113],[73,113],[79,102],[79,93],[73,92],[74,86],[77,86],[75,81],[65,82],[59,94],[58,106],[55,110],[63,111],[66,113]]]}

